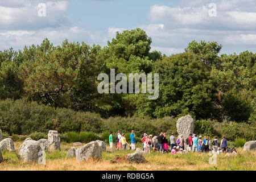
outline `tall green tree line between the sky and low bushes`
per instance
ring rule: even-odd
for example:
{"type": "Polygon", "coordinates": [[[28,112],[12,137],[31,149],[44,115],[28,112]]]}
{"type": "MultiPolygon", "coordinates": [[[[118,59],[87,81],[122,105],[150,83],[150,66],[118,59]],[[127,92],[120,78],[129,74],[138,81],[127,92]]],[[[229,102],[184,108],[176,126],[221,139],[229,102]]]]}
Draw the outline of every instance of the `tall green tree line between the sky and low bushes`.
{"type": "Polygon", "coordinates": [[[137,28],[117,32],[105,47],[82,42],[38,45],[0,51],[0,98],[26,99],[55,109],[98,113],[102,118],[179,117],[253,123],[256,118],[256,54],[220,55],[217,42],[188,44],[167,56],[150,51],[152,40],[137,28]],[[97,76],[159,73],[159,97],[100,94],[97,76]]]}

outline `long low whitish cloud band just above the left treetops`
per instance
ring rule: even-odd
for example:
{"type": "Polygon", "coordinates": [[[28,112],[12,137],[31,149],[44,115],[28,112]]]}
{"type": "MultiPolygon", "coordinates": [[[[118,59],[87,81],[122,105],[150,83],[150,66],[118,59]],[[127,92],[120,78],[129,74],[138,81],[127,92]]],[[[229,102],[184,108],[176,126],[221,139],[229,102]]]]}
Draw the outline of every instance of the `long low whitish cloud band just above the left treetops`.
{"type": "Polygon", "coordinates": [[[13,47],[22,49],[24,46],[41,44],[43,39],[48,38],[53,44],[59,45],[63,40],[70,42],[82,42],[87,44],[103,44],[101,32],[88,32],[79,27],[44,28],[36,31],[6,31],[0,33],[0,50],[13,47]]]}

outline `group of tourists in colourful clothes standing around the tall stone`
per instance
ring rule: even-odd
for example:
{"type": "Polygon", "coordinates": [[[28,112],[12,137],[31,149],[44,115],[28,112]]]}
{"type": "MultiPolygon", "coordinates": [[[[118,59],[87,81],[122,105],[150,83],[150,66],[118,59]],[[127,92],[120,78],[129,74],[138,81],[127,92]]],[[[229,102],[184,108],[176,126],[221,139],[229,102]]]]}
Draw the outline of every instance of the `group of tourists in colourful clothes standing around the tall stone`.
{"type": "MultiPolygon", "coordinates": [[[[125,133],[121,134],[118,130],[117,136],[113,138],[113,132],[109,135],[109,146],[110,152],[112,152],[113,143],[118,150],[126,150],[129,146],[130,150],[135,150],[135,133],[134,130],[130,134],[131,144],[126,140],[125,133]]],[[[143,144],[143,151],[150,153],[151,151],[156,151],[160,153],[170,153],[170,154],[183,154],[184,152],[229,152],[232,154],[237,154],[235,148],[228,148],[228,141],[225,135],[222,136],[221,142],[219,144],[217,136],[211,141],[210,137],[201,135],[197,137],[197,134],[189,134],[189,137],[184,139],[183,135],[180,134],[175,137],[172,133],[170,136],[170,148],[168,147],[168,139],[166,133],[160,133],[158,136],[152,138],[152,135],[146,133],[143,134],[141,139],[143,144]],[[185,146],[187,146],[185,148],[185,146]]]]}

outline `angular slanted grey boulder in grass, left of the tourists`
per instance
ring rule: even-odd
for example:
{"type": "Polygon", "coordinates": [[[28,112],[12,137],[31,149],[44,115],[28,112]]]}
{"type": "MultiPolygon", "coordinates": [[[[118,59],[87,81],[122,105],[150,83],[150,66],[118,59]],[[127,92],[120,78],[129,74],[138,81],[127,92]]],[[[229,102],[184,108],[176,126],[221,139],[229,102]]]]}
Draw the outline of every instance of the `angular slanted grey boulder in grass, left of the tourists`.
{"type": "Polygon", "coordinates": [[[76,150],[76,160],[80,162],[81,160],[88,160],[92,158],[101,157],[101,147],[98,146],[98,142],[90,142],[84,146],[77,148],[76,150]]]}

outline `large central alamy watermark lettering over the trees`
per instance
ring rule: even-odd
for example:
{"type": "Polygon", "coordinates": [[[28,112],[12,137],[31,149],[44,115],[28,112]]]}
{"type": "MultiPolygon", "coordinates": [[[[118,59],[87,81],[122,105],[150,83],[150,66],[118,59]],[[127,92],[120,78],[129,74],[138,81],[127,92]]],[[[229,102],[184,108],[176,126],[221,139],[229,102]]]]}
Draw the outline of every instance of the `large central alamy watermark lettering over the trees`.
{"type": "Polygon", "coordinates": [[[140,93],[140,85],[141,85],[141,93],[149,93],[148,100],[156,100],[159,96],[159,74],[154,73],[154,88],[152,83],[152,73],[129,73],[129,87],[127,90],[127,77],[124,73],[118,73],[115,76],[115,69],[110,69],[110,84],[109,84],[109,76],[106,73],[100,73],[98,75],[97,80],[102,80],[100,84],[98,84],[98,93],[109,93],[109,85],[110,85],[110,93],[140,93]],[[140,81],[141,80],[141,81],[140,81]],[[117,85],[115,85],[115,81],[119,81],[117,85]],[[135,85],[135,88],[134,88],[135,85]]]}

